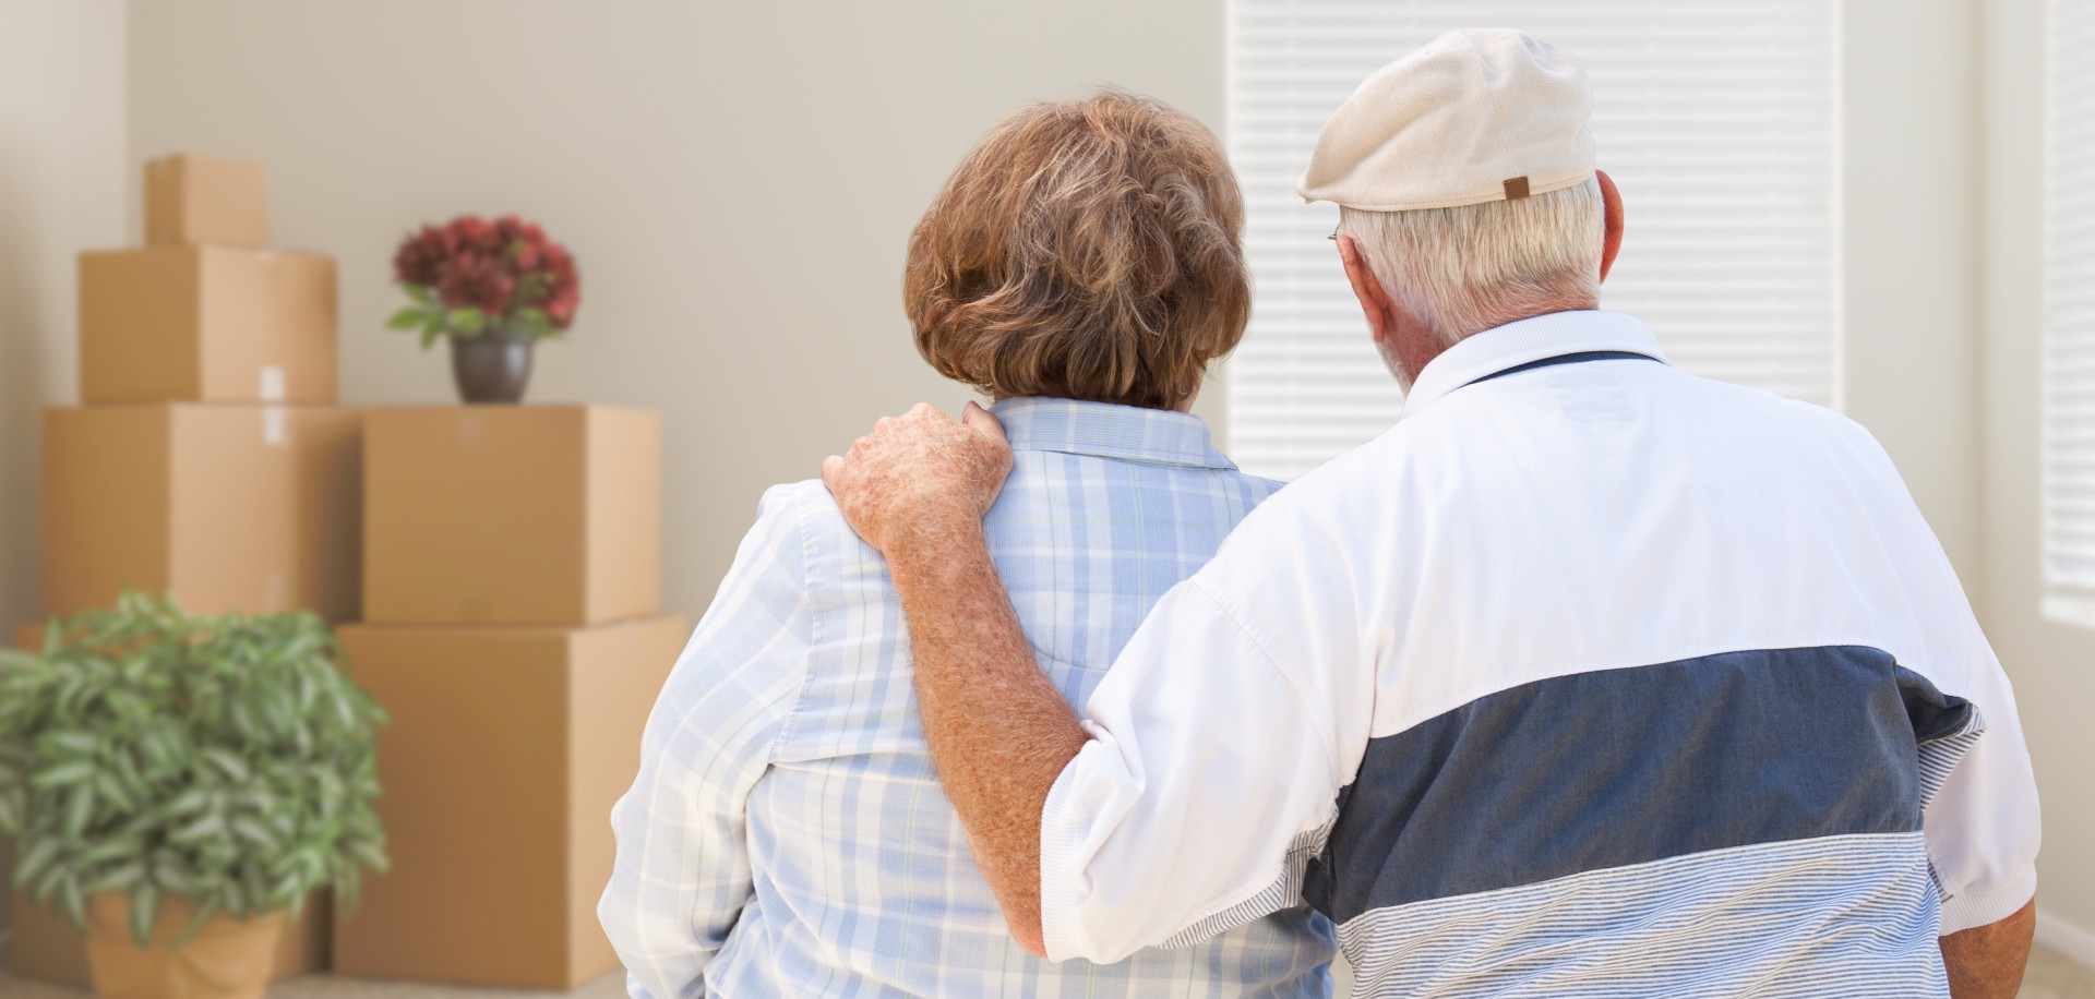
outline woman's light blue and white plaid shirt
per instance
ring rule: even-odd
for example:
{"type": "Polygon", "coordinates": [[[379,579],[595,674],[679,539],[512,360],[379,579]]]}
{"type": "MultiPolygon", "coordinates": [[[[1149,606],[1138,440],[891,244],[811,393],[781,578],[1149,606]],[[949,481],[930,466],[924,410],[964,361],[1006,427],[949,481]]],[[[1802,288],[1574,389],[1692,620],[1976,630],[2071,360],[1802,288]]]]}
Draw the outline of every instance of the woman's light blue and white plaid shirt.
{"type": "MultiPolygon", "coordinates": [[[[1150,605],[1278,484],[1198,419],[995,406],[1014,469],[989,547],[1041,668],[1083,704],[1150,605]]],[[[1330,993],[1330,924],[1293,907],[1117,965],[1004,928],[932,773],[886,561],[821,482],[765,494],[612,813],[597,913],[635,997],[1209,997],[1330,993]]]]}

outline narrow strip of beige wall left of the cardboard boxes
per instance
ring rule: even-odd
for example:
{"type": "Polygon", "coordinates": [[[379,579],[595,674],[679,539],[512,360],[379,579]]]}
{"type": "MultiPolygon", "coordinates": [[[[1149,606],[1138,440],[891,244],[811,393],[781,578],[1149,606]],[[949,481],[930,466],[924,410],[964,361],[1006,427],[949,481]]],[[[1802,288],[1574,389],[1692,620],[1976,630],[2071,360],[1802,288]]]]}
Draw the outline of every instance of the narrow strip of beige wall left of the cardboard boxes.
{"type": "Polygon", "coordinates": [[[124,73],[122,0],[0,6],[0,628],[40,612],[38,410],[75,396],[73,251],[124,235],[124,73]]]}

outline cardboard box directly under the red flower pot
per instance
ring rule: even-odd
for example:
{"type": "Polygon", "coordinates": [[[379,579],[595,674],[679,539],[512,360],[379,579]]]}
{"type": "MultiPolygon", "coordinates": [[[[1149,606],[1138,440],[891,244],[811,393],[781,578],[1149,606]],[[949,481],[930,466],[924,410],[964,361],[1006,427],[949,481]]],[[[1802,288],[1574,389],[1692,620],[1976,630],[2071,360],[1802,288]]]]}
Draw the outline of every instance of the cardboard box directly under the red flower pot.
{"type": "Polygon", "coordinates": [[[580,626],[662,595],[662,421],[608,406],[365,413],[365,622],[580,626]]]}

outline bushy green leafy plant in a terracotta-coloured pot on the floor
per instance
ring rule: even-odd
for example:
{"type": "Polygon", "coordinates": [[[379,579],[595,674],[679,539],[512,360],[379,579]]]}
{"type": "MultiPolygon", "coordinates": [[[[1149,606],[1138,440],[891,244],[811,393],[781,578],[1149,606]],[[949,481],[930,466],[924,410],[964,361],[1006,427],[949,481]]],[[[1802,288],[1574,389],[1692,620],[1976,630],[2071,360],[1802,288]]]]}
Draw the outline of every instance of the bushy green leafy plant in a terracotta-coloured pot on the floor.
{"type": "Polygon", "coordinates": [[[285,917],[385,869],[375,727],[312,614],[126,593],[0,653],[15,886],[88,934],[96,993],[260,997],[285,917]]]}

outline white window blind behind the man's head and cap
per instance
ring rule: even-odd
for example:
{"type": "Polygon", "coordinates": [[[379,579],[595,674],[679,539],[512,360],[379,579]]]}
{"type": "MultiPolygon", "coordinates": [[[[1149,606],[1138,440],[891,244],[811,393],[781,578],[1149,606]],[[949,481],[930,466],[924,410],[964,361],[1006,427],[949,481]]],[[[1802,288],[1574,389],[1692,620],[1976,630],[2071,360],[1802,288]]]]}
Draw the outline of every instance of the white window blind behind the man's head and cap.
{"type": "Polygon", "coordinates": [[[1628,205],[1603,308],[1642,316],[1689,371],[1835,404],[1837,19],[1827,0],[1232,0],[1228,140],[1257,283],[1232,454],[1295,478],[1395,423],[1404,398],[1324,239],[1339,212],[1295,180],[1370,71],[1456,27],[1519,27],[1586,65],[1628,205]]]}

